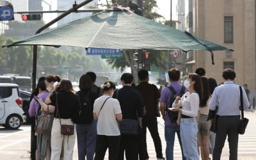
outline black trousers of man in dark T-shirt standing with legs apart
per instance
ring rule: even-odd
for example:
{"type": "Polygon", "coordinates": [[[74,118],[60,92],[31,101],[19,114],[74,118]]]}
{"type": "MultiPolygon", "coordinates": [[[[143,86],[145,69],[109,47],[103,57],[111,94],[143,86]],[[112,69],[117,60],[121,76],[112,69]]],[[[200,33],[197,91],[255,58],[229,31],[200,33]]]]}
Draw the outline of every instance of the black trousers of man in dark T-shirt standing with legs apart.
{"type": "Polygon", "coordinates": [[[162,143],[157,128],[156,116],[144,116],[142,118],[143,128],[139,129],[139,157],[140,160],[148,159],[147,151],[147,127],[154,141],[156,157],[163,158],[162,143]]]}

